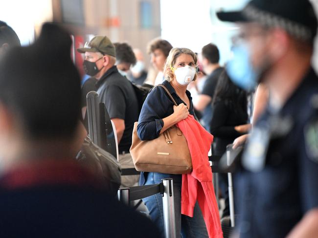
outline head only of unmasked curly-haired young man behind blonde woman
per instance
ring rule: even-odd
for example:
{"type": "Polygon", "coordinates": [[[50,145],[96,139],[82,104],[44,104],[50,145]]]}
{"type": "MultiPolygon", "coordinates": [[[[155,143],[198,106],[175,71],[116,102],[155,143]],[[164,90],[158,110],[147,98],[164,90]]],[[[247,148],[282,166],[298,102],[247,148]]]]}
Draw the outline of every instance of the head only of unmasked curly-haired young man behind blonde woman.
{"type": "Polygon", "coordinates": [[[169,55],[172,45],[162,39],[154,39],[148,44],[147,52],[151,56],[151,63],[159,71],[163,71],[164,63],[169,55]]]}

